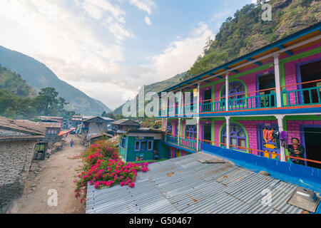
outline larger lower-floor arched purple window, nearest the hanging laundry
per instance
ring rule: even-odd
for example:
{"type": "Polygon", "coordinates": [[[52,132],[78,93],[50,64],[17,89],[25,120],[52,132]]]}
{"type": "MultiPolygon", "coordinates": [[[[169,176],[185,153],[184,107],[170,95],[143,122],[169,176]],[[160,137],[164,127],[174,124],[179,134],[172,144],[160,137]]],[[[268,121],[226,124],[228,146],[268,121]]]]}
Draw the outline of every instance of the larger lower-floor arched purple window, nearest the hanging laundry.
{"type": "MultiPolygon", "coordinates": [[[[223,143],[225,144],[226,144],[226,137],[227,135],[226,135],[226,126],[225,126],[225,128],[223,128],[223,131],[222,131],[222,140],[223,140],[223,143]]],[[[233,123],[230,125],[230,145],[236,146],[236,147],[233,147],[235,150],[244,150],[244,149],[240,149],[239,147],[246,147],[245,130],[237,123],[233,123]]]]}

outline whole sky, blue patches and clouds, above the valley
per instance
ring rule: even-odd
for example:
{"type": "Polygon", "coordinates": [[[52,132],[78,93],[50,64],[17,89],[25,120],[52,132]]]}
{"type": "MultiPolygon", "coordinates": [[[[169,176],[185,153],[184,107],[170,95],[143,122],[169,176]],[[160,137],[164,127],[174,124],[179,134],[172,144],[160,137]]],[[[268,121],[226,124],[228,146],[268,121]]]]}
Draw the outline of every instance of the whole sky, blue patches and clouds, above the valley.
{"type": "Polygon", "coordinates": [[[0,45],[35,58],[108,108],[188,71],[253,0],[0,0],[0,45]]]}

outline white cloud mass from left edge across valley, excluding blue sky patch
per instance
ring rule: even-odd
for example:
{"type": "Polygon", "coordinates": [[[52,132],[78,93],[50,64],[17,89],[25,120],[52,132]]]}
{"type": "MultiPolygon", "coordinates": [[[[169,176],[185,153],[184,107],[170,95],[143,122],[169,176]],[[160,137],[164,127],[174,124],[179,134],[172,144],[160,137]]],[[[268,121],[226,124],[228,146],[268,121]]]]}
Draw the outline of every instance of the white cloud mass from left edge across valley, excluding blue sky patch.
{"type": "MultiPolygon", "coordinates": [[[[83,90],[108,107],[133,97],[138,86],[155,83],[187,71],[213,37],[207,24],[200,23],[188,37],[177,36],[160,53],[141,66],[126,65],[126,39],[135,37],[126,28],[126,12],[107,0],[1,0],[0,45],[36,58],[58,78],[83,90]]],[[[151,14],[153,1],[130,0],[151,14]]],[[[145,18],[150,23],[149,16],[145,18]]]]}

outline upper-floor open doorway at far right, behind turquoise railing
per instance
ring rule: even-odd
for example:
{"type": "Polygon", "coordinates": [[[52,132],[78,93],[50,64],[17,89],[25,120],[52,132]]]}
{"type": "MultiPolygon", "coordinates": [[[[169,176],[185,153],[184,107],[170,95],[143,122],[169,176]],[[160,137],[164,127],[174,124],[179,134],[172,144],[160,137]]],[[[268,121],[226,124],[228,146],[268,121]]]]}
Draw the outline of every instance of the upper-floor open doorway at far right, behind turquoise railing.
{"type": "Polygon", "coordinates": [[[319,80],[321,79],[321,60],[300,65],[300,73],[298,75],[298,82],[304,83],[298,86],[299,89],[304,89],[303,93],[299,93],[301,103],[320,103],[321,81],[319,80]],[[308,88],[313,89],[309,90],[308,88]]]}

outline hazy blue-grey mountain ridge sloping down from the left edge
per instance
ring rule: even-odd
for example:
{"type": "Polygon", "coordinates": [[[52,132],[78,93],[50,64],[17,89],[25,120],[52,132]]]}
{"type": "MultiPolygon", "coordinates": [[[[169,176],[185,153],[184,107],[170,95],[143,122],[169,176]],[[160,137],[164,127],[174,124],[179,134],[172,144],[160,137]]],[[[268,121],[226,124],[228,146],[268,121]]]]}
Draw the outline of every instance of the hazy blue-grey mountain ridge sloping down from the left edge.
{"type": "Polygon", "coordinates": [[[101,115],[103,111],[111,111],[101,101],[89,97],[81,90],[62,81],[44,63],[24,53],[0,46],[0,65],[19,73],[36,91],[41,88],[54,87],[59,96],[69,103],[66,105],[68,110],[85,115],[101,115]]]}

